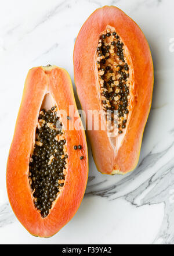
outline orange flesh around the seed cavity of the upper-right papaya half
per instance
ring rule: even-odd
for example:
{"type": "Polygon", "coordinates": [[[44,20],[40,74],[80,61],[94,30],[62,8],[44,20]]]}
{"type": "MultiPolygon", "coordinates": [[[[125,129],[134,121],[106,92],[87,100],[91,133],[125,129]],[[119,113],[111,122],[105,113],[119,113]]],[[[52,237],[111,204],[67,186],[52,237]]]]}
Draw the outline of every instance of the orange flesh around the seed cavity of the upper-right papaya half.
{"type": "MultiPolygon", "coordinates": [[[[96,75],[95,54],[99,35],[107,25],[114,27],[128,48],[130,55],[128,64],[132,70],[134,89],[133,111],[129,113],[131,117],[128,127],[117,151],[111,147],[106,132],[93,130],[88,131],[88,135],[97,170],[108,175],[124,175],[135,169],[139,161],[143,132],[153,96],[153,60],[142,30],[129,16],[115,6],[104,6],[95,10],[79,31],[74,46],[75,86],[86,116],[88,109],[100,110],[100,102],[96,98],[99,83],[96,75]],[[85,51],[82,51],[83,49],[88,49],[88,56],[85,51]]],[[[102,120],[99,120],[99,124],[100,122],[102,120]]]]}

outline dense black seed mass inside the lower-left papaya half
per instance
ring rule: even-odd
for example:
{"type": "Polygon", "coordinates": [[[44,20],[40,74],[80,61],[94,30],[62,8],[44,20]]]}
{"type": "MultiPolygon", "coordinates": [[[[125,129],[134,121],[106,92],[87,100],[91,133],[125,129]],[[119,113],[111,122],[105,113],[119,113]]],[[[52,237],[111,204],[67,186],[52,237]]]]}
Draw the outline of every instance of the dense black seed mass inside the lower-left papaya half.
{"type": "Polygon", "coordinates": [[[66,134],[57,112],[56,106],[39,112],[34,152],[30,157],[29,184],[34,205],[43,218],[48,216],[63,189],[68,164],[66,134]]]}

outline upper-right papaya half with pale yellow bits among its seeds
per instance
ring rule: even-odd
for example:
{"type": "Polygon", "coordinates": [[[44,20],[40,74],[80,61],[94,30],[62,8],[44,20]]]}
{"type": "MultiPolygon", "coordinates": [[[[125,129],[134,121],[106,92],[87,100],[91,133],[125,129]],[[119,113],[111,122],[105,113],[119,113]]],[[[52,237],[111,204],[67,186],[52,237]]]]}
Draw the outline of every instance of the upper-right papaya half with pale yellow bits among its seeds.
{"type": "Polygon", "coordinates": [[[153,61],[139,26],[115,6],[95,10],[74,47],[74,79],[97,169],[131,172],[139,160],[153,95],[153,61]],[[99,129],[95,129],[98,120],[99,129]]]}

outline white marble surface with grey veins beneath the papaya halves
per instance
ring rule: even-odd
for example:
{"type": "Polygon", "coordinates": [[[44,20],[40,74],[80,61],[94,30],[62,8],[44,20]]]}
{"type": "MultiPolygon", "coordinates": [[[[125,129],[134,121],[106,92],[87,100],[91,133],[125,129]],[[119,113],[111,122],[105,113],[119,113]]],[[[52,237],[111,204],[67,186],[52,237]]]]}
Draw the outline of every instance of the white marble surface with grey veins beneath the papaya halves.
{"type": "Polygon", "coordinates": [[[0,243],[174,244],[173,9],[173,0],[1,0],[0,243]],[[50,63],[67,69],[74,83],[75,37],[103,5],[118,6],[135,20],[153,55],[153,105],[139,165],[125,176],[101,175],[89,148],[89,180],[79,211],[50,239],[33,237],[14,216],[5,182],[24,79],[31,67],[50,63]]]}

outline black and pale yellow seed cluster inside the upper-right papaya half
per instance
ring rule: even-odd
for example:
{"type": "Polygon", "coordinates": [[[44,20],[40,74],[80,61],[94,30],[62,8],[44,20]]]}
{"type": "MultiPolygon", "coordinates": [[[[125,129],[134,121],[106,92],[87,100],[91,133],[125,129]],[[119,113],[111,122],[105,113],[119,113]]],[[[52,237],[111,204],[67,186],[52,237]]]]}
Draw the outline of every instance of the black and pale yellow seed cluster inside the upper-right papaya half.
{"type": "Polygon", "coordinates": [[[121,134],[130,111],[130,78],[124,43],[114,28],[103,31],[96,52],[101,104],[107,126],[117,127],[117,134],[121,134]]]}

